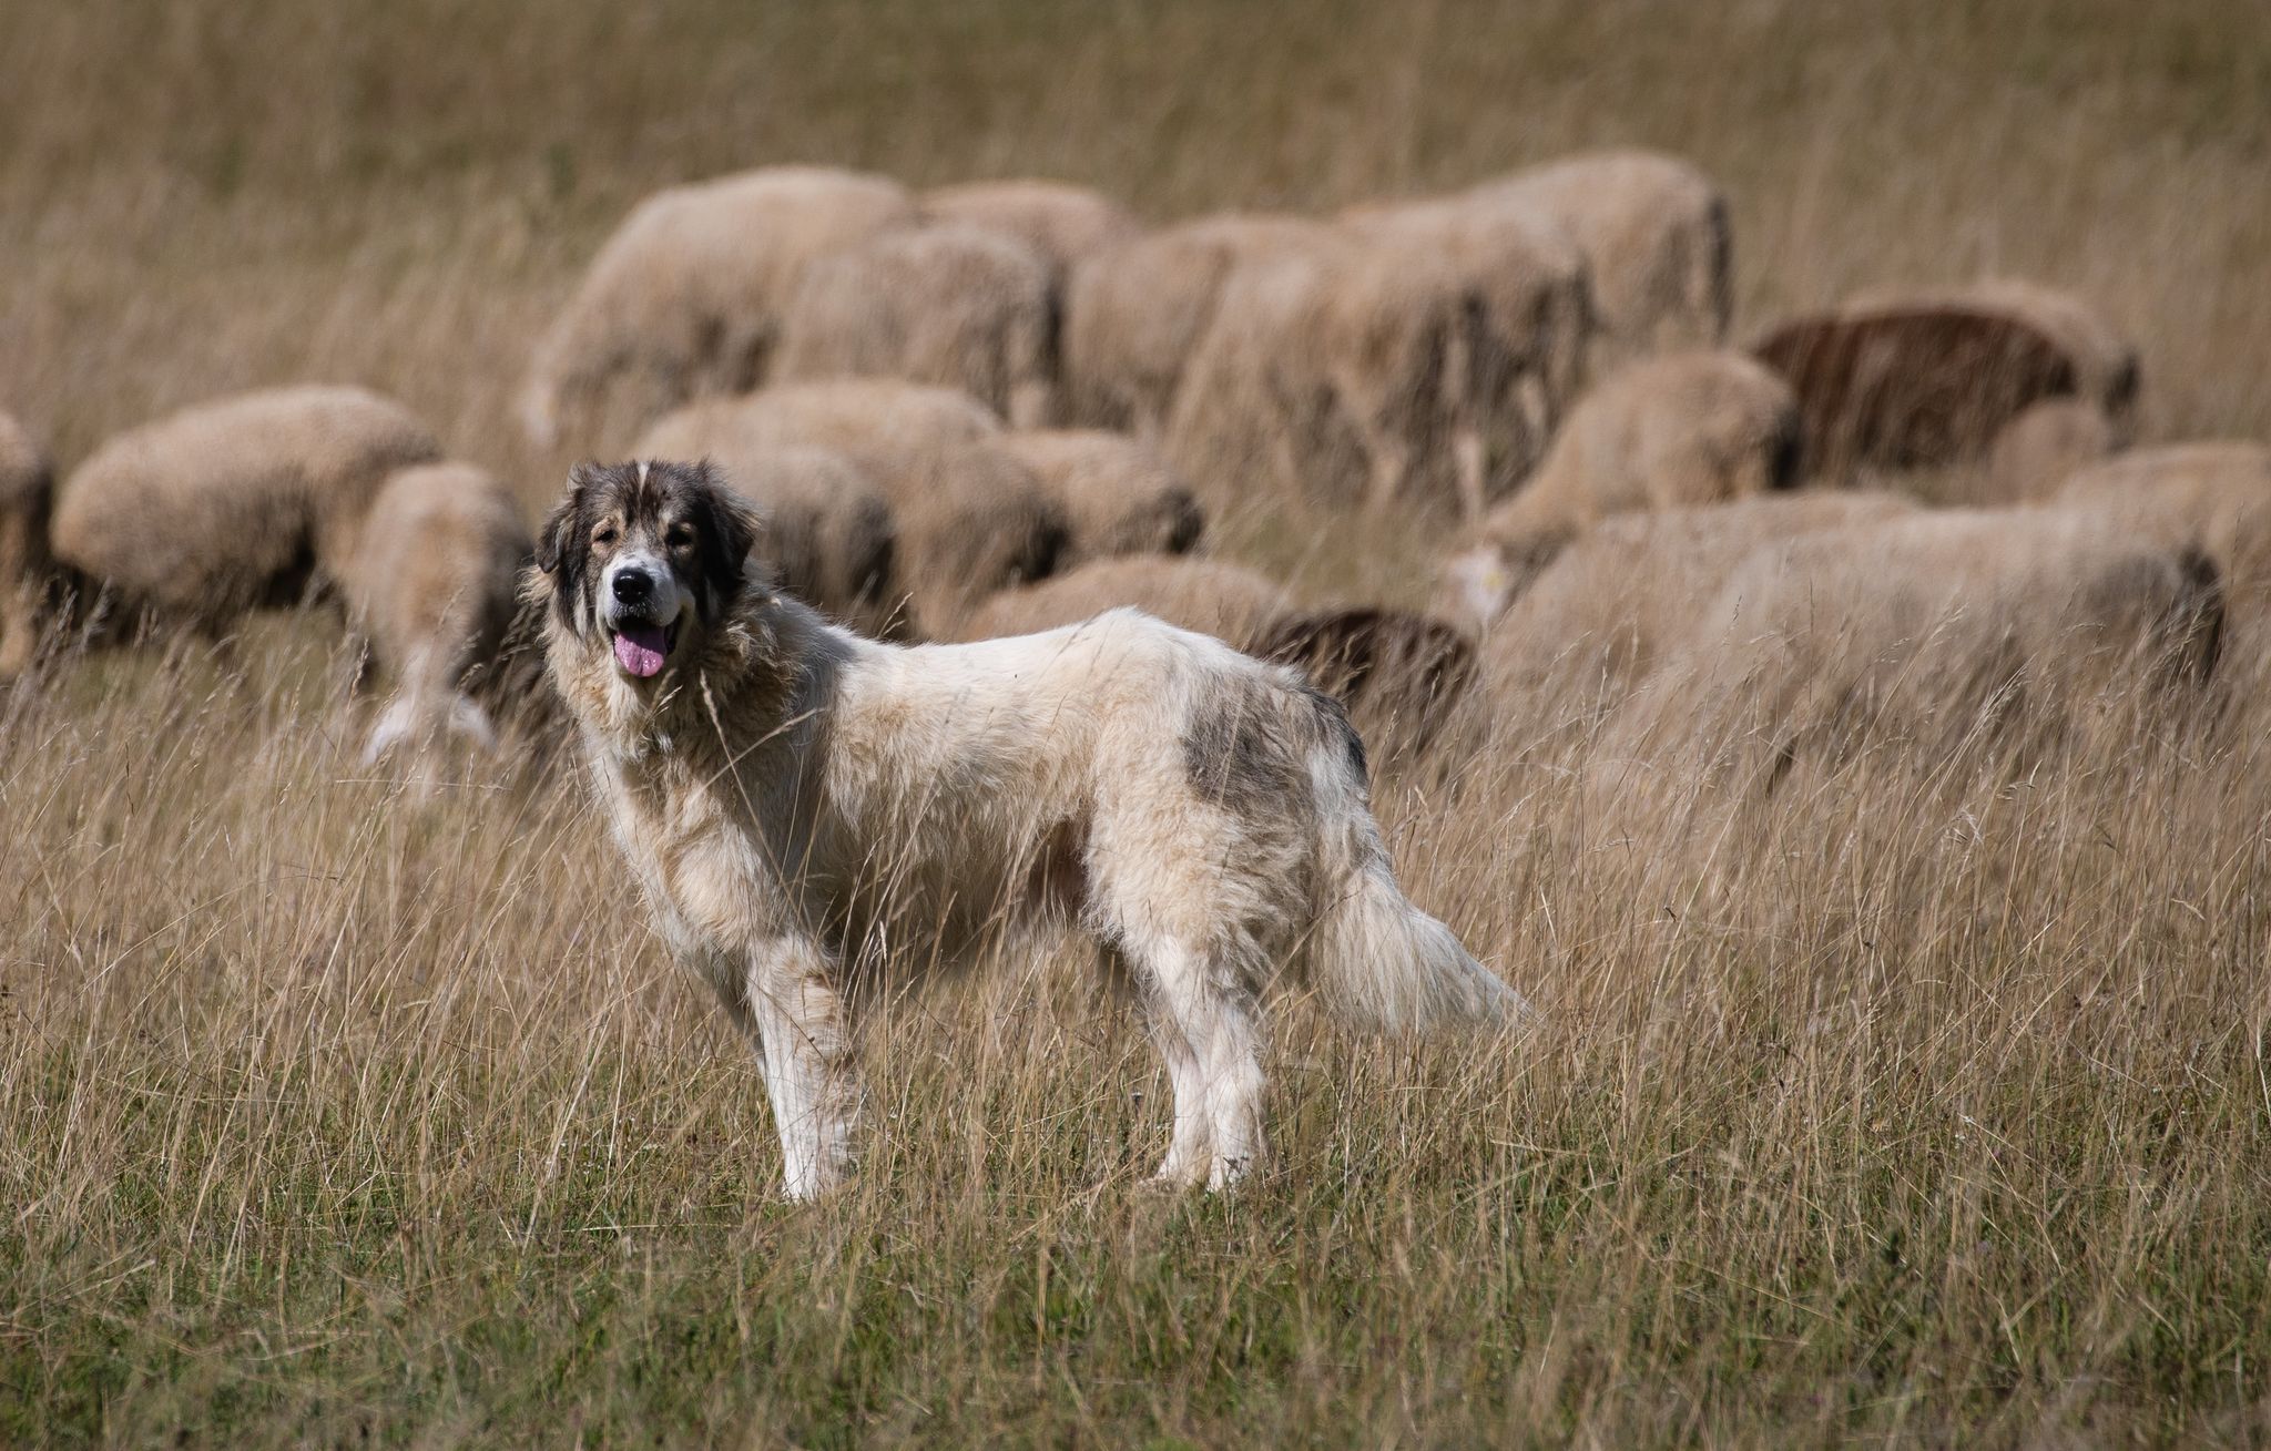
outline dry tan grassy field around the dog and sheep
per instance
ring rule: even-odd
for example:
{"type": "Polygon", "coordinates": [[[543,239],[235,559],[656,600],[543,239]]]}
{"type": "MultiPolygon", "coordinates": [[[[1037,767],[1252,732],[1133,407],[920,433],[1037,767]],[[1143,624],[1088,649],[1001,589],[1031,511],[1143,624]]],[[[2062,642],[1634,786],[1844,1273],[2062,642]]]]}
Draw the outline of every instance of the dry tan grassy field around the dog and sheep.
{"type": "MultiPolygon", "coordinates": [[[[1170,218],[1610,141],[1724,179],[1744,334],[2028,272],[2151,438],[2271,436],[2257,0],[23,0],[0,95],[0,406],[66,466],[347,379],[534,509],[534,334],[745,163],[1170,218]]],[[[1235,538],[1424,593],[1426,538],[1235,538]]],[[[377,779],[334,654],[0,697],[0,1444],[2271,1440],[2271,702],[1615,822],[1501,722],[1378,806],[1540,1031],[1297,1010],[1272,1172],[1172,1199],[1138,1026],[1011,970],[868,1029],[865,1174],[795,1208],[565,768],[377,779]]]]}

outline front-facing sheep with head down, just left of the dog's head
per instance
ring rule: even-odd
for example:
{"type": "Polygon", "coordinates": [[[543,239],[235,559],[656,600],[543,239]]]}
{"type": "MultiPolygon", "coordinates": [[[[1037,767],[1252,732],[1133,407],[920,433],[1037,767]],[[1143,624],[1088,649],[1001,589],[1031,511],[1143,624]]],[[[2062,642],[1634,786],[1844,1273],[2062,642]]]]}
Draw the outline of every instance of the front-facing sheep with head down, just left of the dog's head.
{"type": "Polygon", "coordinates": [[[354,554],[334,565],[347,624],[393,683],[370,761],[450,738],[495,747],[477,695],[518,704],[502,661],[531,550],[511,490],[481,468],[425,463],[379,488],[354,554]]]}

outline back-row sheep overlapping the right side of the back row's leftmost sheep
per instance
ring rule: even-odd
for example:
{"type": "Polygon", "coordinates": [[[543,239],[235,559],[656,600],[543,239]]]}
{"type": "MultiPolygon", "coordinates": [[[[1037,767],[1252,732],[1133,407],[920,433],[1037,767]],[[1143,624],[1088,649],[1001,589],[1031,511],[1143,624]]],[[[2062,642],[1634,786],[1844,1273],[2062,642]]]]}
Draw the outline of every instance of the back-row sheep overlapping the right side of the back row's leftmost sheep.
{"type": "Polygon", "coordinates": [[[1049,420],[1058,295],[1013,236],[947,223],[881,232],[804,268],[777,377],[904,377],[967,391],[1017,427],[1049,420]]]}

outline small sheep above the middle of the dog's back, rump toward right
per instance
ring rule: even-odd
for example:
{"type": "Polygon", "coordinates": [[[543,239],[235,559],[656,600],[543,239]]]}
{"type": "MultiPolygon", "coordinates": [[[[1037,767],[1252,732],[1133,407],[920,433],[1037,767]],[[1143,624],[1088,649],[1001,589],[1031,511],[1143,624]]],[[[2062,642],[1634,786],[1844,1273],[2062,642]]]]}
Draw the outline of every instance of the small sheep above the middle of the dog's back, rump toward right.
{"type": "Polygon", "coordinates": [[[1004,434],[999,447],[1054,493],[1072,527],[1061,568],[1108,554],[1185,554],[1206,513],[1147,443],[1101,429],[1004,434]]]}

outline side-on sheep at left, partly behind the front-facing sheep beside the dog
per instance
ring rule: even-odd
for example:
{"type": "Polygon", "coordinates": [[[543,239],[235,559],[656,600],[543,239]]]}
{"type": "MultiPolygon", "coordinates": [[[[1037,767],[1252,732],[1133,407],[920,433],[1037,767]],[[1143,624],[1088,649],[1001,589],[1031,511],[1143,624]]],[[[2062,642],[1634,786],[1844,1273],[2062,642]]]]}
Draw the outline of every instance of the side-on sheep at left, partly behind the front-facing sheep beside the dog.
{"type": "Polygon", "coordinates": [[[379,486],[441,445],[363,388],[241,393],[107,441],[64,481],[55,554],[139,613],[218,629],[354,554],[379,486]]]}

